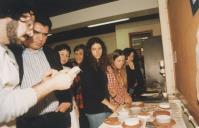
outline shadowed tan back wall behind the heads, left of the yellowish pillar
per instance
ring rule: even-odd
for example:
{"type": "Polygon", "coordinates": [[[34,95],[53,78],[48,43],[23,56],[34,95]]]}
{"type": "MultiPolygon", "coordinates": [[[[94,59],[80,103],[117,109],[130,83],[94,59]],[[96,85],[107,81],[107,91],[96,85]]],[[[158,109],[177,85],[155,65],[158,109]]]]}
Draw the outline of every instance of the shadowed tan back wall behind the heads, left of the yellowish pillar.
{"type": "MultiPolygon", "coordinates": [[[[110,54],[111,52],[113,52],[116,49],[115,33],[108,33],[108,34],[102,34],[102,35],[96,35],[96,36],[101,38],[105,42],[108,54],[110,54]]],[[[91,37],[85,37],[85,38],[80,38],[80,39],[57,42],[56,44],[53,44],[51,46],[54,47],[55,45],[66,43],[71,47],[71,50],[73,51],[73,49],[76,45],[86,44],[89,38],[91,38],[91,37]]],[[[72,52],[71,56],[73,57],[73,52],[72,52]]]]}

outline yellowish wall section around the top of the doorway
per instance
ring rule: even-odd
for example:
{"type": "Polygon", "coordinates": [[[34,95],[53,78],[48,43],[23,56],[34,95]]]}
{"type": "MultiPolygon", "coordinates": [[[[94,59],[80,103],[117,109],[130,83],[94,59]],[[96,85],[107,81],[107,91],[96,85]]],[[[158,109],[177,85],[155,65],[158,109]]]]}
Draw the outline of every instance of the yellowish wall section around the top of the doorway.
{"type": "Polygon", "coordinates": [[[124,49],[129,47],[129,33],[152,30],[154,36],[161,35],[160,22],[157,20],[147,20],[142,22],[133,22],[116,26],[116,46],[124,49]]]}

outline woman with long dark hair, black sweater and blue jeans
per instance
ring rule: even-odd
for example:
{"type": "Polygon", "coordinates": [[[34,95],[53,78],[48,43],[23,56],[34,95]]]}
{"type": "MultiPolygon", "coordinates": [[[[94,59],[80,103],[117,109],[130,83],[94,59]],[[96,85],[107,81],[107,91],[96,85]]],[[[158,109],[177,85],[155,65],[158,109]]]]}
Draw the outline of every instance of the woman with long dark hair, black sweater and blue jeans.
{"type": "Polygon", "coordinates": [[[98,128],[116,107],[108,101],[107,54],[104,42],[94,37],[88,40],[89,65],[81,76],[84,110],[90,128],[98,128]]]}

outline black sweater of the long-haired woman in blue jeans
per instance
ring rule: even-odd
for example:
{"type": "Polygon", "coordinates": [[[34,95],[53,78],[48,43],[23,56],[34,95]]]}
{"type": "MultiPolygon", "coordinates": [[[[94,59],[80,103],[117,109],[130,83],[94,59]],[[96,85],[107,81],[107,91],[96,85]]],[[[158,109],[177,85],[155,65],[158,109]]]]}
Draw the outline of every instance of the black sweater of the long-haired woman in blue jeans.
{"type": "Polygon", "coordinates": [[[95,70],[87,65],[80,75],[85,113],[97,114],[108,111],[101,103],[108,95],[106,74],[100,68],[95,70]]]}

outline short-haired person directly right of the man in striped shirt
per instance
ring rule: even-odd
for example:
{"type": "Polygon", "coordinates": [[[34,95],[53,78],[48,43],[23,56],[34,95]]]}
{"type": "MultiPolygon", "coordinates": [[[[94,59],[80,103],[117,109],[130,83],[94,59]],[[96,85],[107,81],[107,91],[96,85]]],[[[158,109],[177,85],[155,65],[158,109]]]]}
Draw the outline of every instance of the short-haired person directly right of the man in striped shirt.
{"type": "MultiPolygon", "coordinates": [[[[69,58],[71,53],[70,47],[66,44],[57,45],[55,47],[55,51],[59,53],[60,62],[63,65],[63,68],[70,69],[72,67],[72,64],[69,63],[69,58]]],[[[73,91],[72,89],[69,89],[66,90],[65,92],[66,95],[63,97],[67,98],[69,102],[63,104],[62,106],[60,105],[59,111],[62,112],[69,111],[70,108],[72,107],[72,111],[70,112],[71,128],[79,128],[79,111],[75,99],[73,97],[73,91]]]]}

